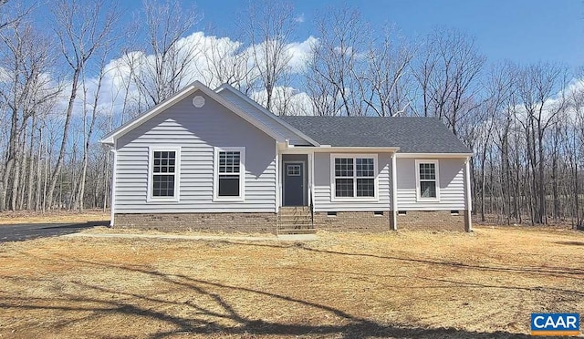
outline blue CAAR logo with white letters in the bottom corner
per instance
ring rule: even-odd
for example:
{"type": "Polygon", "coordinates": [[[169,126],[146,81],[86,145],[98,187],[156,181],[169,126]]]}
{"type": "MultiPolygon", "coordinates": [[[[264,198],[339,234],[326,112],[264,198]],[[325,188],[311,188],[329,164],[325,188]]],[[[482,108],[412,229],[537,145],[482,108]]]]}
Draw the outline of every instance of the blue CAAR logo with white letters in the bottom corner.
{"type": "Polygon", "coordinates": [[[579,334],[579,313],[531,313],[531,335],[579,334]]]}

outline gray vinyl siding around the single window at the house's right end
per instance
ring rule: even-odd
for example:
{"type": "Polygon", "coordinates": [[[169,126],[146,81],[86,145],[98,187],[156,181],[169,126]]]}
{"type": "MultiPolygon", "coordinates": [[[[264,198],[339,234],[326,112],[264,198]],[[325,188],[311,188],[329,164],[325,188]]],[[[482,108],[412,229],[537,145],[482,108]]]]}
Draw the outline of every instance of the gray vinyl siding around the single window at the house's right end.
{"type": "Polygon", "coordinates": [[[416,200],[416,159],[397,159],[399,211],[464,210],[464,159],[438,159],[440,201],[416,200]]]}

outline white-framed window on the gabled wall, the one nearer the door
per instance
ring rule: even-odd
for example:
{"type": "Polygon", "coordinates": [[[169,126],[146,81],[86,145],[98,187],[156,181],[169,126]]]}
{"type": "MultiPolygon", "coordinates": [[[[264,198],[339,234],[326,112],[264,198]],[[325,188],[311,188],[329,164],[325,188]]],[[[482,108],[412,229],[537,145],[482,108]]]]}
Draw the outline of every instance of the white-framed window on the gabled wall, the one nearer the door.
{"type": "Polygon", "coordinates": [[[245,148],[217,148],[214,157],[214,199],[243,200],[245,148]]]}

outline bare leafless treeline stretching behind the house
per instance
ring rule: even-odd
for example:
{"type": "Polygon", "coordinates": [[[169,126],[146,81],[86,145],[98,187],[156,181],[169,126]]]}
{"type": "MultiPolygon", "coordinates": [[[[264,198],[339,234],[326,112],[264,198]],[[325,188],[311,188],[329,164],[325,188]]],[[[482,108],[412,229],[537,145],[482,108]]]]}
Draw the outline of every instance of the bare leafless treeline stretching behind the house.
{"type": "Polygon", "coordinates": [[[582,219],[579,70],[492,64],[464,32],[407,39],[348,6],[315,15],[300,43],[302,18],[284,2],[245,8],[233,39],[193,33],[200,11],[178,1],[145,1],[130,25],[120,12],[0,1],[0,210],[109,208],[98,139],[196,79],[279,115],[440,118],[474,151],[480,220],[582,219]]]}

